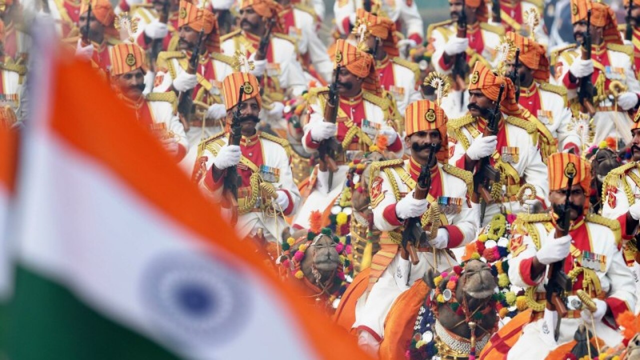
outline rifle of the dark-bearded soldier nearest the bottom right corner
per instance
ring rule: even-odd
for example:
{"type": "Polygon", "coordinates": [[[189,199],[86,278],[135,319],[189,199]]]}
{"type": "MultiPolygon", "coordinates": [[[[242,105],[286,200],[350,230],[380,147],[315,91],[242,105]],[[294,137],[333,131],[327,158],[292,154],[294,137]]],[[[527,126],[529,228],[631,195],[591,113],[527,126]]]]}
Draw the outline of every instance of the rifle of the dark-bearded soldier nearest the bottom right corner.
{"type": "MultiPolygon", "coordinates": [[[[571,224],[569,198],[571,196],[571,187],[573,186],[575,173],[575,165],[573,163],[568,163],[564,168],[564,176],[568,178],[566,199],[564,200],[563,205],[554,207],[554,212],[559,215],[557,222],[558,227],[556,227],[556,238],[565,236],[569,233],[569,227],[571,224]]],[[[545,285],[545,291],[547,291],[547,309],[550,311],[557,311],[558,313],[556,329],[554,331],[556,341],[559,336],[560,320],[567,314],[565,305],[566,296],[564,295],[564,292],[571,291],[571,289],[572,281],[564,273],[564,259],[549,265],[548,282],[545,285]]]]}

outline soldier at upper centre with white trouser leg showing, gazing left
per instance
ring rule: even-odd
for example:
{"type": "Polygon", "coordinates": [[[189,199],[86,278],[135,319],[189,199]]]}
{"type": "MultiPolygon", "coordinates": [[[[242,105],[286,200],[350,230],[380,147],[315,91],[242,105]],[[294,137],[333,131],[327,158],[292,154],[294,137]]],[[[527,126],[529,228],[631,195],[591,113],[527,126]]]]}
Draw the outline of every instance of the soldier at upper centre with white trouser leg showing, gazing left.
{"type": "MultiPolygon", "coordinates": [[[[312,191],[294,218],[294,227],[308,227],[311,211],[319,209],[323,213],[333,206],[333,201],[344,188],[348,170],[344,164],[348,164],[358,152],[369,151],[378,136],[385,136],[387,151],[397,157],[403,154],[402,140],[390,126],[389,102],[378,95],[381,88],[373,57],[350,41],[339,39],[336,46],[333,70],[334,74],[337,73],[337,104],[333,104],[337,111],[335,122],[325,117],[328,89],[312,89],[309,121],[302,138],[305,151],[310,154],[318,154],[321,143],[335,138],[342,146],[342,152],[335,154],[333,159],[338,166],[335,169],[324,166],[314,169],[309,181],[312,191]]],[[[323,156],[319,160],[326,161],[323,156]]]]}

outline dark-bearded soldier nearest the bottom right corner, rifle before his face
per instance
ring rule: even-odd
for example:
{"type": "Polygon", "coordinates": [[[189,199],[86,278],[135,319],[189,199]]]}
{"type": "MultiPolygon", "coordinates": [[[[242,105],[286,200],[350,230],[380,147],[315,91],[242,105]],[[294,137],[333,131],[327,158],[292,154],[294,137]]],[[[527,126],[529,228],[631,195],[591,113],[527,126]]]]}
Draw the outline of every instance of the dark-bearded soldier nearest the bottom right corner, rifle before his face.
{"type": "Polygon", "coordinates": [[[527,297],[535,305],[533,321],[524,326],[507,359],[543,359],[558,345],[573,340],[582,323],[606,345],[616,346],[622,339],[616,331],[616,318],[636,304],[633,277],[620,252],[620,224],[586,213],[591,186],[588,163],[563,152],[552,154],[548,164],[552,212],[519,215],[525,231],[511,240],[509,279],[516,286],[534,289],[527,291],[527,297]],[[573,176],[570,188],[568,176],[573,176]],[[570,219],[568,233],[561,222],[566,216],[570,219]],[[562,318],[557,308],[554,311],[540,302],[547,297],[545,270],[556,262],[561,262],[561,267],[551,266],[557,269],[553,272],[564,270],[572,279],[572,290],[566,293],[566,316],[562,318]],[[581,303],[576,301],[579,290],[591,297],[595,311],[576,307],[581,303]]]}

